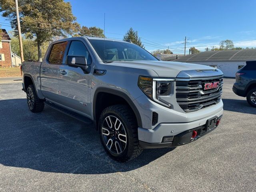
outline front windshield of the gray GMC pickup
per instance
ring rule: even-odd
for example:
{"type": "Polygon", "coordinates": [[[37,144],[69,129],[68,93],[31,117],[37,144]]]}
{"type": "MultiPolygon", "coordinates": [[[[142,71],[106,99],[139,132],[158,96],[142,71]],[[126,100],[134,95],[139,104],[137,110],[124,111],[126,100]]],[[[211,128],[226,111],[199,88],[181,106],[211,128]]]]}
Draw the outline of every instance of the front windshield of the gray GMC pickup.
{"type": "Polygon", "coordinates": [[[89,39],[94,50],[104,62],[157,60],[149,52],[132,43],[89,39]]]}

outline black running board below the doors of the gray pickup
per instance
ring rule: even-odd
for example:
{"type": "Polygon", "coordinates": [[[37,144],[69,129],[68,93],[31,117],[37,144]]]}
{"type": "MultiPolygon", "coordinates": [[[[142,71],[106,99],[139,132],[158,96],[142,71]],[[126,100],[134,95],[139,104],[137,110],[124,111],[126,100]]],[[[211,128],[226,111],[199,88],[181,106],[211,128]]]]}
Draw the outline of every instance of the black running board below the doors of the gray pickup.
{"type": "Polygon", "coordinates": [[[61,106],[58,106],[58,105],[54,104],[54,103],[45,101],[44,104],[46,104],[46,105],[49,106],[50,108],[54,108],[55,110],[58,110],[59,112],[62,112],[62,113],[64,113],[64,114],[66,114],[66,115],[68,115],[68,116],[70,116],[70,117],[73,117],[73,118],[75,118],[75,119],[77,119],[77,120],[79,120],[79,121],[82,121],[82,122],[84,122],[84,123],[87,124],[87,125],[93,123],[93,121],[90,120],[89,118],[87,118],[87,117],[85,117],[85,116],[82,116],[82,115],[80,115],[80,114],[78,114],[78,113],[76,113],[76,112],[72,112],[72,111],[70,111],[70,110],[67,110],[67,109],[65,109],[65,108],[63,108],[63,107],[61,107],[61,106]]]}

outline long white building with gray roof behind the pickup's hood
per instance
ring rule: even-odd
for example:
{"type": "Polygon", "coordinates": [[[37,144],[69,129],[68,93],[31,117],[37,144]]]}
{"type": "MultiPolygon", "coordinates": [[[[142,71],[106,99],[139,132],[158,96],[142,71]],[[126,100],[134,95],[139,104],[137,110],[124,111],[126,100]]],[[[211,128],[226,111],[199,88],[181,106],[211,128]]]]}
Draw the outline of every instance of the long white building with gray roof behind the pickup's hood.
{"type": "Polygon", "coordinates": [[[235,77],[246,61],[256,60],[256,49],[205,51],[162,60],[208,65],[222,70],[226,77],[235,77]]]}

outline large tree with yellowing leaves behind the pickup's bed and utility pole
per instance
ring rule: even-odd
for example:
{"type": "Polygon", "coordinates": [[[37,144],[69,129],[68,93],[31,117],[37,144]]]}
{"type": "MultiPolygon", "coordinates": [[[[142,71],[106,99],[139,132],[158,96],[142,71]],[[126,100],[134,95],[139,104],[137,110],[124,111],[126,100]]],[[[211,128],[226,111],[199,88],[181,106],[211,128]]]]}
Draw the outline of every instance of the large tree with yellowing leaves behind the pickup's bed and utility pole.
{"type": "MultiPolygon", "coordinates": [[[[42,44],[54,36],[68,36],[78,31],[71,5],[64,0],[18,0],[20,25],[23,34],[36,41],[38,60],[42,60],[42,44]]],[[[14,0],[0,0],[2,16],[17,29],[14,0]]]]}

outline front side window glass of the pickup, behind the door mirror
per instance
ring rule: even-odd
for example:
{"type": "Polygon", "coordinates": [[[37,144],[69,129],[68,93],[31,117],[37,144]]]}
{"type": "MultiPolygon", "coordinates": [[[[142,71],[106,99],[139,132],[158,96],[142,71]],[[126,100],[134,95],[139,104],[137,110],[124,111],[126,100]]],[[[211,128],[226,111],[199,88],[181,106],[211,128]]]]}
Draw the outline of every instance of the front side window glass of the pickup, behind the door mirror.
{"type": "Polygon", "coordinates": [[[72,41],[68,50],[68,55],[73,56],[85,56],[87,64],[92,63],[92,58],[88,52],[88,49],[81,41],[72,41]]]}

